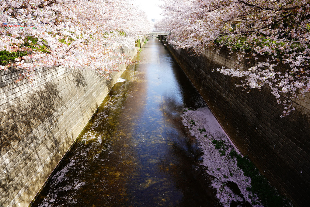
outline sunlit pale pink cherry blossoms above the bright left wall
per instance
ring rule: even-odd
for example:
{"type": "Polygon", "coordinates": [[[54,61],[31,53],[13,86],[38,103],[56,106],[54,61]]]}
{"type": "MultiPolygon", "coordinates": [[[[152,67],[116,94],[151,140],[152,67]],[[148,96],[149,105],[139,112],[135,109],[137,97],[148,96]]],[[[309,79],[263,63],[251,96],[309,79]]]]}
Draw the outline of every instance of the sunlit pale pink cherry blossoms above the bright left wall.
{"type": "Polygon", "coordinates": [[[129,0],[0,0],[0,51],[21,54],[0,70],[22,69],[32,82],[37,67],[89,68],[106,78],[129,64],[120,47],[151,28],[129,0]]]}

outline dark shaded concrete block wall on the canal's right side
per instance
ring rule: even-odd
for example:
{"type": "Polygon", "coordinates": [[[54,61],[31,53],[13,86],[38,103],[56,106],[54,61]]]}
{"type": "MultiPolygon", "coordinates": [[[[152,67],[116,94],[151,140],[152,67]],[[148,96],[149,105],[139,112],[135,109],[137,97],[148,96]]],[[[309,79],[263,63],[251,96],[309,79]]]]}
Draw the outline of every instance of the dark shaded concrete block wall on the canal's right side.
{"type": "MultiPolygon", "coordinates": [[[[295,101],[296,110],[281,118],[283,109],[269,88],[247,93],[235,86],[237,78],[211,71],[223,65],[232,68],[236,56],[228,58],[227,49],[219,54],[210,50],[201,56],[172,45],[168,49],[242,154],[249,155],[259,171],[296,206],[308,206],[309,94],[295,101]]],[[[260,57],[259,61],[263,58],[266,57],[260,57]]]]}

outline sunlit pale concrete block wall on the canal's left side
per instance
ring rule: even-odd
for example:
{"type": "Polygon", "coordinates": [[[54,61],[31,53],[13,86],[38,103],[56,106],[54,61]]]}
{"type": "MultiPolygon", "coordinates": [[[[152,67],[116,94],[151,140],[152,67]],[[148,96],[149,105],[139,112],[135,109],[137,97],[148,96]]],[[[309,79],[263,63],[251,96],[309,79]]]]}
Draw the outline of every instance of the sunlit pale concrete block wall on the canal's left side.
{"type": "Polygon", "coordinates": [[[93,70],[41,68],[33,85],[15,83],[20,71],[0,71],[1,207],[29,205],[126,65],[119,70],[107,80],[93,70]]]}

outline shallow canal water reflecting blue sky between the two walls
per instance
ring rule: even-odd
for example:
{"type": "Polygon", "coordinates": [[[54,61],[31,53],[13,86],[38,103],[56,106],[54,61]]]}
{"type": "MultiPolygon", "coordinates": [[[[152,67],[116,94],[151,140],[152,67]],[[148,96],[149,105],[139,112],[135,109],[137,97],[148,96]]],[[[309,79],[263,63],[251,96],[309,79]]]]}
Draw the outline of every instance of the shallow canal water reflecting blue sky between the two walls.
{"type": "Polygon", "coordinates": [[[182,124],[205,102],[149,38],[32,206],[221,206],[182,124]]]}

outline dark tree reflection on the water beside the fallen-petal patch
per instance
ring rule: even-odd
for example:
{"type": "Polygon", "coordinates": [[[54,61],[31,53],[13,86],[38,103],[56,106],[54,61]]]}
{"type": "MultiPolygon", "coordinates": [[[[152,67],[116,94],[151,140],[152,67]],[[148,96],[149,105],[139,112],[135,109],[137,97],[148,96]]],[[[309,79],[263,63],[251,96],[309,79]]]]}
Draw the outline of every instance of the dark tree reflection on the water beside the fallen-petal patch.
{"type": "MultiPolygon", "coordinates": [[[[193,86],[191,86],[193,87],[193,86]]],[[[195,91],[197,93],[197,91],[195,91]]],[[[192,94],[195,96],[195,94],[192,94]]],[[[169,140],[169,152],[158,160],[161,172],[172,178],[172,185],[182,192],[179,206],[218,206],[215,190],[210,187],[211,179],[202,167],[193,167],[197,154],[192,146],[197,146],[195,137],[184,130],[181,121],[182,105],[173,97],[164,96],[161,103],[162,116],[168,129],[163,136],[169,140]],[[177,114],[177,115],[176,115],[177,114]],[[171,130],[173,129],[173,130],[171,130]]],[[[170,185],[171,185],[170,184],[170,185]]],[[[169,190],[171,189],[170,185],[169,190]]],[[[170,192],[171,195],[171,192],[170,192]]]]}

